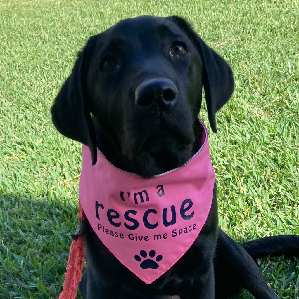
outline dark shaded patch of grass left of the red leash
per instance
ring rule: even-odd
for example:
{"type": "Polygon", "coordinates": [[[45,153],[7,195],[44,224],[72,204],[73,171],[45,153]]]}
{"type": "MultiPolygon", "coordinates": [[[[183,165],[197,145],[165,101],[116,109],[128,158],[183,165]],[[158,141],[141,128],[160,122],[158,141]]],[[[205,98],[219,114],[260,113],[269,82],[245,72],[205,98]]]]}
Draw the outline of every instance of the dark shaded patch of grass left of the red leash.
{"type": "Polygon", "coordinates": [[[0,298],[58,298],[75,204],[0,194],[0,298]]]}

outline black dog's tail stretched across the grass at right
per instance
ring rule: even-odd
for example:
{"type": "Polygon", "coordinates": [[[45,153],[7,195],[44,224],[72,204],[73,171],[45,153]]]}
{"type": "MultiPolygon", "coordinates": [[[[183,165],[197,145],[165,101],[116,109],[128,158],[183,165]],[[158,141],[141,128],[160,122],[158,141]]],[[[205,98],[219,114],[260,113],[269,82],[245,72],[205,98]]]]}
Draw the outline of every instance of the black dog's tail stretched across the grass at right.
{"type": "Polygon", "coordinates": [[[270,256],[286,255],[299,257],[299,236],[281,235],[264,237],[241,244],[254,259],[270,256]]]}

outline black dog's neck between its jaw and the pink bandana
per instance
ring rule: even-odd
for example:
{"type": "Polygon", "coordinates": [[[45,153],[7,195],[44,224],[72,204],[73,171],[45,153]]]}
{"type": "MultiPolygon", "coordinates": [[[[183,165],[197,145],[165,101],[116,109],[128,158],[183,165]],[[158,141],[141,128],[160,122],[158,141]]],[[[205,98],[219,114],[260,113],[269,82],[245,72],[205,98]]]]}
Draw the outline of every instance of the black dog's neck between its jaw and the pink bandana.
{"type": "Polygon", "coordinates": [[[114,132],[106,132],[103,127],[94,120],[97,147],[115,167],[136,173],[143,177],[151,177],[175,169],[184,165],[201,147],[203,127],[196,119],[193,123],[195,142],[185,149],[173,149],[171,151],[157,153],[142,153],[132,160],[122,154],[121,144],[114,132]]]}

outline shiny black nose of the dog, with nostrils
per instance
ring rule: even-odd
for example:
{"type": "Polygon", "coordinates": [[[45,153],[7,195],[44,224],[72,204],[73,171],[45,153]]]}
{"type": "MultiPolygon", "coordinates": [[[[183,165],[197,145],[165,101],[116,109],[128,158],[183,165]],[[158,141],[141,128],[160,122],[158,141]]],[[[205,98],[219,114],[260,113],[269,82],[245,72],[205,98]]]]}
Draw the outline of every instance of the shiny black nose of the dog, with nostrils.
{"type": "Polygon", "coordinates": [[[177,87],[167,78],[148,79],[140,83],[135,90],[135,103],[150,107],[153,103],[172,106],[177,100],[177,87]]]}

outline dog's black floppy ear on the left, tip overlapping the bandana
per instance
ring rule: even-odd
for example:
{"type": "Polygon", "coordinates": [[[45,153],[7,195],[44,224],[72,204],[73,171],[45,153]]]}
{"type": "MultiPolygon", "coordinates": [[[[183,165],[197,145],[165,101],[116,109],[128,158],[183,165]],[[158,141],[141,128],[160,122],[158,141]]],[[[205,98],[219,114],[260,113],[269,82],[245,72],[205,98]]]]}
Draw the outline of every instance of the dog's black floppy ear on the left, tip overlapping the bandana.
{"type": "Polygon", "coordinates": [[[92,164],[95,164],[95,131],[83,80],[86,77],[93,40],[90,38],[83,51],[79,52],[72,74],[66,79],[54,100],[51,114],[54,126],[61,134],[89,146],[92,164]]]}

